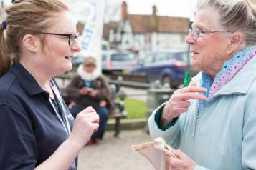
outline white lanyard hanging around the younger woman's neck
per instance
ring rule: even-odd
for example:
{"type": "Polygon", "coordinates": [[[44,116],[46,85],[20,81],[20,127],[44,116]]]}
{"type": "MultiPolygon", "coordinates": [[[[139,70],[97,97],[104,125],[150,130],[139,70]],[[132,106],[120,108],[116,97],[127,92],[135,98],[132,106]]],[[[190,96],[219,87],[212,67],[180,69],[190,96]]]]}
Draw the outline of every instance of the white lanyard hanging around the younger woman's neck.
{"type": "MultiPolygon", "coordinates": [[[[50,79],[50,86],[52,87],[52,91],[54,92],[54,96],[56,96],[56,102],[60,106],[59,111],[62,112],[62,118],[59,114],[59,111],[57,110],[56,106],[53,104],[52,99],[49,98],[49,103],[52,105],[52,108],[54,109],[55,114],[57,115],[57,118],[60,120],[62,126],[64,126],[65,131],[67,132],[67,135],[70,136],[70,122],[67,119],[67,113],[65,111],[65,107],[63,104],[62,97],[60,96],[60,92],[57,89],[57,86],[54,84],[54,81],[50,79]]],[[[77,169],[75,166],[75,161],[72,162],[72,165],[70,167],[71,169],[77,169]]]]}

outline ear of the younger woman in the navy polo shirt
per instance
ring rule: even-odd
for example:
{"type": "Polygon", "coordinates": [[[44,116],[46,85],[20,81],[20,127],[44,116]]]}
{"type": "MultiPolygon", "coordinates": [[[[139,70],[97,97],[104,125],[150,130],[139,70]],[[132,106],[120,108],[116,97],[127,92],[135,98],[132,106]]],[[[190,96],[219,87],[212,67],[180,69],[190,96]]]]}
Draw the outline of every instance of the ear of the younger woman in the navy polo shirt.
{"type": "Polygon", "coordinates": [[[27,50],[37,52],[39,48],[39,39],[36,36],[26,34],[23,36],[22,42],[27,50]]]}

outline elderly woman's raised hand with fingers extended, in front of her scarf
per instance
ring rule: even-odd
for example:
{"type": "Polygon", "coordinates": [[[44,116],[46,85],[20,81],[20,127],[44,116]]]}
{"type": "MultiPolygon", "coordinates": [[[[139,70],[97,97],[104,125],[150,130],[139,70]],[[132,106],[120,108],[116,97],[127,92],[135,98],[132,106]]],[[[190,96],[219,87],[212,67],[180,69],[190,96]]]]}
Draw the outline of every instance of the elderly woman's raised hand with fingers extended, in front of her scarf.
{"type": "Polygon", "coordinates": [[[174,118],[178,117],[179,114],[186,112],[190,106],[189,99],[206,100],[206,96],[199,94],[205,91],[207,91],[207,89],[197,87],[195,84],[174,91],[174,94],[171,95],[171,98],[166,102],[163,108],[161,126],[166,126],[174,118]]]}

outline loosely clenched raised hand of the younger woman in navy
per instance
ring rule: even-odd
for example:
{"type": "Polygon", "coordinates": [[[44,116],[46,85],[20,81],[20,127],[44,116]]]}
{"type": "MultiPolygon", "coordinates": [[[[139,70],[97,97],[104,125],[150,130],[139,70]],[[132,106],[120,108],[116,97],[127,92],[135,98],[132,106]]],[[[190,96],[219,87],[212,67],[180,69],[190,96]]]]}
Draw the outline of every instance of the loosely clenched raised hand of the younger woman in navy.
{"type": "Polygon", "coordinates": [[[93,132],[99,127],[99,116],[93,107],[87,107],[77,114],[75,124],[70,134],[70,141],[82,148],[87,144],[93,132]]]}

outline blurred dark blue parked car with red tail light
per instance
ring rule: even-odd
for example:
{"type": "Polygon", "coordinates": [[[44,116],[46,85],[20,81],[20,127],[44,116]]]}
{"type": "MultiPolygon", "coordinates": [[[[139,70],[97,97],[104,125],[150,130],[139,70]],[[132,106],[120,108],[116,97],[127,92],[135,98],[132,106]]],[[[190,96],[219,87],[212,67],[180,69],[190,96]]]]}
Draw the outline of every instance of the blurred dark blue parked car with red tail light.
{"type": "Polygon", "coordinates": [[[176,88],[184,81],[188,55],[186,50],[174,49],[151,52],[139,61],[131,74],[145,74],[149,83],[159,80],[176,88]]]}

